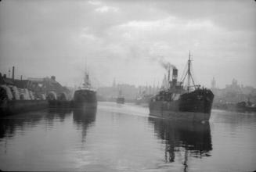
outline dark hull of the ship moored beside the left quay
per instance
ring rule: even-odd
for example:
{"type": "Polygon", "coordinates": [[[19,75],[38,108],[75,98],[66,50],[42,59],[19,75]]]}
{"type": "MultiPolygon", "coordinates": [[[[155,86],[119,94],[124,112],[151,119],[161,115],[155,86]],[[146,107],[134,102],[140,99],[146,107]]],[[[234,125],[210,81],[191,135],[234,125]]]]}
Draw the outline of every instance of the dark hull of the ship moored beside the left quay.
{"type": "Polygon", "coordinates": [[[97,107],[96,91],[81,89],[74,92],[73,107],[80,109],[95,109],[97,107]]]}

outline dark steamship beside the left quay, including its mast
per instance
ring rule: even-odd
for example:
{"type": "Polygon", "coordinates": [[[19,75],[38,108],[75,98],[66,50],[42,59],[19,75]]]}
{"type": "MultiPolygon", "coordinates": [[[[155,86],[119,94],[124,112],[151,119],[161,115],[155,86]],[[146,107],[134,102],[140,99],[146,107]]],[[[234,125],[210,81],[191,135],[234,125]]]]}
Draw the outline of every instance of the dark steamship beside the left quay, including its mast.
{"type": "Polygon", "coordinates": [[[87,71],[85,71],[84,84],[74,91],[73,106],[82,109],[95,109],[97,107],[96,90],[92,88],[87,71]]]}

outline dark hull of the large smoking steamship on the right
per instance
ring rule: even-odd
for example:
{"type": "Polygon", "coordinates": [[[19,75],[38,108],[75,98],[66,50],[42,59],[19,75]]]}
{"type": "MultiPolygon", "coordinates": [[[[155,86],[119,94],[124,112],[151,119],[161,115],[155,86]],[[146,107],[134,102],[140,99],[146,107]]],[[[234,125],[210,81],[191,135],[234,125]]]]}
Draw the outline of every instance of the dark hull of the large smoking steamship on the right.
{"type": "Polygon", "coordinates": [[[178,100],[151,99],[150,115],[177,120],[209,120],[213,99],[213,93],[207,89],[184,93],[178,100]]]}

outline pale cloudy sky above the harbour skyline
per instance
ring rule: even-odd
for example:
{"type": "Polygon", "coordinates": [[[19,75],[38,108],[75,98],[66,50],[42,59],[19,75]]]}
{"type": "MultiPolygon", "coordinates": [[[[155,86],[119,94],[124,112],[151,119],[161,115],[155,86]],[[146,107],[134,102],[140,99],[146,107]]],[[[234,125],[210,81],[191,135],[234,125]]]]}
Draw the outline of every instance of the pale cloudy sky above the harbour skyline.
{"type": "Polygon", "coordinates": [[[189,50],[197,84],[236,78],[256,88],[254,0],[2,0],[0,72],[56,76],[95,87],[161,84],[160,62],[185,69],[189,50]]]}

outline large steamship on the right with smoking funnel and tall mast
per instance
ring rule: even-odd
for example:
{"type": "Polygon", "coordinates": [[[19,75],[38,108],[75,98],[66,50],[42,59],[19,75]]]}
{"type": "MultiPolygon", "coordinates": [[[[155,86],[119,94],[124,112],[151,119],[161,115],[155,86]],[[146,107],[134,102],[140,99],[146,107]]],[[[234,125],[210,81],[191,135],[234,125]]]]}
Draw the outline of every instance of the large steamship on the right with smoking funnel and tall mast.
{"type": "Polygon", "coordinates": [[[196,85],[191,74],[191,59],[189,52],[188,70],[182,81],[178,82],[178,70],[168,66],[169,88],[160,91],[150,99],[150,115],[175,120],[207,121],[211,116],[211,106],[214,94],[207,88],[196,85]],[[183,82],[187,78],[187,86],[183,82]],[[190,81],[193,85],[190,85],[190,81]]]}

